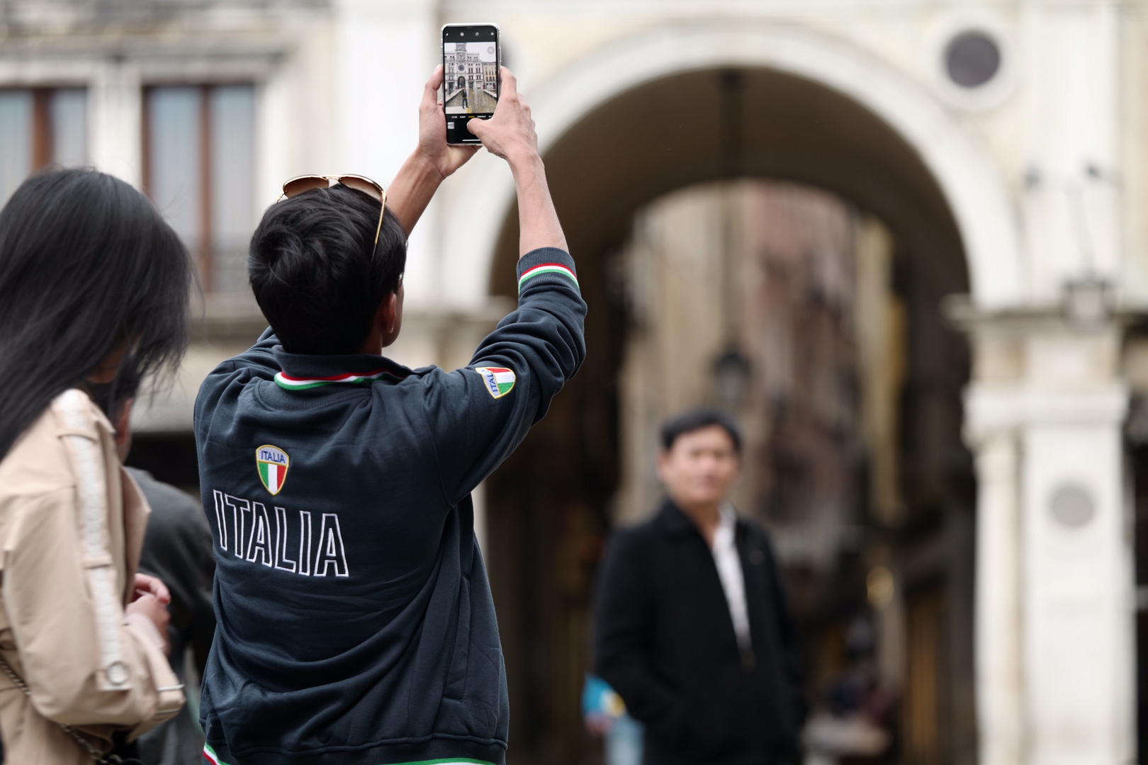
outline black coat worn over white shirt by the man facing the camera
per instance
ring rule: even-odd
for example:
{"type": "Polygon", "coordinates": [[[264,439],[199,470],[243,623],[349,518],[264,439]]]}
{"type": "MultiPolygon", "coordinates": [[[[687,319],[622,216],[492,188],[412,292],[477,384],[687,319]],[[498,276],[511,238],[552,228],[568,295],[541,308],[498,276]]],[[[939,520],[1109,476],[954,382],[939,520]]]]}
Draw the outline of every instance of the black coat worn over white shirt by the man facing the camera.
{"type": "Polygon", "coordinates": [[[799,762],[797,634],[765,530],[737,522],[752,650],[737,645],[713,553],[666,501],[615,534],[598,578],[598,674],[645,723],[646,765],[799,762]]]}

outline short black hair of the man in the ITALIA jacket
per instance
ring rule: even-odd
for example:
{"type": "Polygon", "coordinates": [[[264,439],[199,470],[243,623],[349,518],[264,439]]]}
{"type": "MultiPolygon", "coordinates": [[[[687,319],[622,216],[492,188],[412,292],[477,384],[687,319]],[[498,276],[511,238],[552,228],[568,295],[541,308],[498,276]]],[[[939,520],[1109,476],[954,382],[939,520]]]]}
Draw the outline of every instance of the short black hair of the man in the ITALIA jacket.
{"type": "Polygon", "coordinates": [[[247,274],[263,315],[292,353],[357,353],[379,305],[398,290],[406,234],[379,201],[343,185],[271,205],[251,236],[247,274]]]}

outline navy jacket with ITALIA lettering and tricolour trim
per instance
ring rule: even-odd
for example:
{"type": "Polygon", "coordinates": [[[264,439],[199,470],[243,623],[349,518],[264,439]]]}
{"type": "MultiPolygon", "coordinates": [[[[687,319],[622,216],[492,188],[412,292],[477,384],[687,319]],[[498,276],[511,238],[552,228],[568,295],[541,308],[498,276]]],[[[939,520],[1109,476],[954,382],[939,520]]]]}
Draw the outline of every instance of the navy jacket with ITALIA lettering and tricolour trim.
{"type": "Polygon", "coordinates": [[[518,310],[463,369],[293,354],[267,330],[203,382],[209,760],[505,760],[505,669],[471,491],[585,356],[571,257],[535,250],[518,273],[518,310]]]}

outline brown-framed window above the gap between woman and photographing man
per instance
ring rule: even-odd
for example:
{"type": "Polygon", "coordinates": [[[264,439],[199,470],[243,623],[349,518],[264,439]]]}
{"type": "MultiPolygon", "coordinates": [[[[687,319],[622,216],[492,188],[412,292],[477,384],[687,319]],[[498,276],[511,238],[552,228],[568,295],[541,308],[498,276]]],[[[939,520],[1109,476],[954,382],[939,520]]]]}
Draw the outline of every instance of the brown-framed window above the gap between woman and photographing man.
{"type": "Polygon", "coordinates": [[[255,88],[150,87],[145,101],[148,195],[195,257],[204,290],[245,291],[255,224],[255,88]]]}

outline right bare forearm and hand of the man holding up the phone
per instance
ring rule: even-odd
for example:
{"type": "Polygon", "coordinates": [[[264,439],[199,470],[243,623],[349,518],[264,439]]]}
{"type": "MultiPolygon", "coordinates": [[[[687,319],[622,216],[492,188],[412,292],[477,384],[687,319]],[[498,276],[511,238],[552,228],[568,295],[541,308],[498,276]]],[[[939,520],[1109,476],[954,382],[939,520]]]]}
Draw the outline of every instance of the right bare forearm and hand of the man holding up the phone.
{"type": "Polygon", "coordinates": [[[490,119],[472,119],[467,130],[479,136],[487,151],[510,165],[518,189],[518,256],[542,247],[569,251],[554,202],[546,186],[546,169],[538,155],[530,107],[518,94],[518,80],[509,69],[499,70],[502,91],[490,119]]]}

